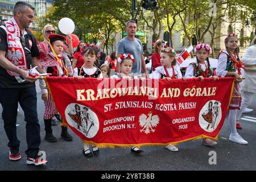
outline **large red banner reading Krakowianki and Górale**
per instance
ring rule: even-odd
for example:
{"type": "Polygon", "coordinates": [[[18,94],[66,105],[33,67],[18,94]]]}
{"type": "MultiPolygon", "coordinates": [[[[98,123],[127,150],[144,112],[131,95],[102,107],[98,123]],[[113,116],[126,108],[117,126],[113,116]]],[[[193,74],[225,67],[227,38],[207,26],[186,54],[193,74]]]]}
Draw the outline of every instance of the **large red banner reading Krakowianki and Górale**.
{"type": "Polygon", "coordinates": [[[99,147],[217,139],[234,83],[234,78],[45,79],[67,125],[99,147]]]}

